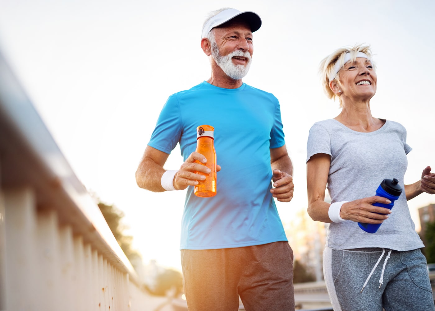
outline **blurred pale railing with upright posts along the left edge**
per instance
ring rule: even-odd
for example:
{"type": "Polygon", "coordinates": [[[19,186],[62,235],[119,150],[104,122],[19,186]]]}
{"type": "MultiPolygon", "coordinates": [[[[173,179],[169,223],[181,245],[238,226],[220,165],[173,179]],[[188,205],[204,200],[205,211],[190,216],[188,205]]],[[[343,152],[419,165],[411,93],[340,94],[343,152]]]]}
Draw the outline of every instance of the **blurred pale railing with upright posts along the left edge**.
{"type": "Polygon", "coordinates": [[[0,310],[147,310],[97,204],[0,54],[0,310]]]}

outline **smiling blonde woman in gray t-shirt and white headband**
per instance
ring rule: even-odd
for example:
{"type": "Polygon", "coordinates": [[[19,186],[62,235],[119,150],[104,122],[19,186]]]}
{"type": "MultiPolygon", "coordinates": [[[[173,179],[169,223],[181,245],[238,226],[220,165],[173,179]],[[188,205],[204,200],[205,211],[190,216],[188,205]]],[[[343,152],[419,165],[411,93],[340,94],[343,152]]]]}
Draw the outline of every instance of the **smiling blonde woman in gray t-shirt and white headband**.
{"type": "Polygon", "coordinates": [[[435,174],[428,166],[422,179],[403,186],[411,147],[401,124],[371,115],[377,76],[369,46],[336,50],[320,71],[326,94],[338,97],[342,108],[334,119],[311,127],[307,144],[308,214],[330,223],[324,275],[332,306],[435,310],[423,243],[407,205],[420,193],[435,193],[435,174]],[[392,210],[372,205],[391,203],[374,196],[386,178],[404,188],[392,210]],[[332,204],[325,202],[326,187],[332,204]],[[381,226],[367,233],[358,222],[381,226]]]}

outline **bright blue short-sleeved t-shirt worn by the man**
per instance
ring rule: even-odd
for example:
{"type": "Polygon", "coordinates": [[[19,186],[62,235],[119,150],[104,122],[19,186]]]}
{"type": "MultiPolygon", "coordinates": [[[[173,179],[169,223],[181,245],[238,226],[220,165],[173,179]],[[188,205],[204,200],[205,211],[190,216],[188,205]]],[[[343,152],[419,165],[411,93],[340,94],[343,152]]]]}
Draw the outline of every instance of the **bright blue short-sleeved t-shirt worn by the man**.
{"type": "Polygon", "coordinates": [[[180,249],[287,241],[270,193],[269,148],[284,145],[278,99],[246,84],[228,89],[204,81],[168,98],[148,145],[170,154],[179,143],[185,160],[196,149],[199,125],[214,127],[221,171],[216,196],[200,198],[187,188],[180,249]]]}

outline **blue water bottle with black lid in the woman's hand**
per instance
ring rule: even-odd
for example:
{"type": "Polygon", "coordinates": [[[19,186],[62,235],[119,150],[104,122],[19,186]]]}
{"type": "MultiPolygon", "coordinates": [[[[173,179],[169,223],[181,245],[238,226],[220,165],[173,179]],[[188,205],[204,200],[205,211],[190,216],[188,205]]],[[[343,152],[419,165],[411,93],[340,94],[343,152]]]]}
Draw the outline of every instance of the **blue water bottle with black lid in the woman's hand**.
{"type": "MultiPolygon", "coordinates": [[[[379,185],[378,189],[376,189],[376,195],[377,196],[383,196],[384,198],[387,198],[391,201],[390,204],[383,204],[383,203],[373,203],[374,206],[381,206],[388,208],[391,210],[391,208],[394,206],[394,201],[397,200],[402,193],[402,187],[399,185],[399,181],[395,178],[388,179],[385,178],[382,180],[381,184],[379,185]]],[[[358,226],[368,233],[375,233],[378,231],[379,227],[382,223],[358,223],[358,226]]]]}

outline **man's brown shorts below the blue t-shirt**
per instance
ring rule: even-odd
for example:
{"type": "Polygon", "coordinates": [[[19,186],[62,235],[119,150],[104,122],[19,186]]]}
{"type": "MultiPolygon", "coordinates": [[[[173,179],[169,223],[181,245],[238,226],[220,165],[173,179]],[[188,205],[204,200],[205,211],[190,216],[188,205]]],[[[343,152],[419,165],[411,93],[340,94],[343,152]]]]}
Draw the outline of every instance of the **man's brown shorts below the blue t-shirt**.
{"type": "Polygon", "coordinates": [[[189,311],[293,311],[293,251],[286,241],[181,250],[189,311]]]}

